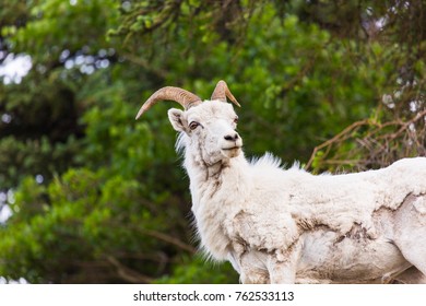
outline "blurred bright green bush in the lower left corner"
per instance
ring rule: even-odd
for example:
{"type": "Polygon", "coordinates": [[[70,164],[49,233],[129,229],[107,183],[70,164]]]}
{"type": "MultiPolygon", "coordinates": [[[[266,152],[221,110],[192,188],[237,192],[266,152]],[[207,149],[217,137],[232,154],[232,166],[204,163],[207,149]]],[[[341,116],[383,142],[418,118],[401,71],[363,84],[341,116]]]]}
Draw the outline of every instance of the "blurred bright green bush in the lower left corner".
{"type": "Polygon", "coordinates": [[[178,249],[153,233],[178,234],[182,228],[161,213],[167,197],[157,202],[142,197],[143,187],[135,180],[84,168],[70,169],[47,187],[24,179],[11,204],[14,214],[0,232],[0,273],[10,279],[25,275],[29,282],[122,282],[131,278],[144,282],[150,279],[145,273],[164,273],[169,269],[168,256],[178,249]],[[146,264],[156,262],[162,249],[164,267],[146,264]],[[121,264],[117,262],[127,262],[137,272],[128,269],[132,276],[120,279],[115,273],[121,264]],[[96,275],[99,268],[104,271],[96,275]]]}

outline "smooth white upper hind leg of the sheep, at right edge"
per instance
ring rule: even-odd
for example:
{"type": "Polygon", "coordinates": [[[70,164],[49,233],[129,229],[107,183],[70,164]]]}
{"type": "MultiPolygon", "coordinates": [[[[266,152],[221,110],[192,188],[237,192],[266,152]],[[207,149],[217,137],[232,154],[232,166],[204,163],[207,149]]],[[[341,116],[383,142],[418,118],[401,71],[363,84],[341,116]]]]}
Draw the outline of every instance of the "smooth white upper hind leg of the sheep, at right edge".
{"type": "Polygon", "coordinates": [[[410,196],[395,214],[394,243],[426,276],[426,195],[410,196]]]}

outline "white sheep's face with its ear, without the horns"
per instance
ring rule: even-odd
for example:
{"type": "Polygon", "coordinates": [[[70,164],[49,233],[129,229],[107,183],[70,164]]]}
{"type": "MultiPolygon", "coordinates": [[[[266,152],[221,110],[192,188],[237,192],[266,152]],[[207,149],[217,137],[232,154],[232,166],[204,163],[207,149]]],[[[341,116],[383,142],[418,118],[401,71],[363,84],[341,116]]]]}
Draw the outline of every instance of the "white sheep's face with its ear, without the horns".
{"type": "Polygon", "coordinates": [[[228,103],[205,101],[186,111],[173,108],[168,118],[175,130],[188,136],[187,149],[209,165],[241,153],[242,140],[235,131],[238,116],[228,103]]]}

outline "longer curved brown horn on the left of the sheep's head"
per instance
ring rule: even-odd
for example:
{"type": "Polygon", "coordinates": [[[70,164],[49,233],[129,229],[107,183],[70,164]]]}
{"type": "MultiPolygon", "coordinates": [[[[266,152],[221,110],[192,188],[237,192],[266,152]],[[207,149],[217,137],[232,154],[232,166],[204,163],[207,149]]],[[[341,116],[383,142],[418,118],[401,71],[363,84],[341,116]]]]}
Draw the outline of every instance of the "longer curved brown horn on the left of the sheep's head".
{"type": "Polygon", "coordinates": [[[184,106],[185,109],[189,109],[190,107],[201,103],[201,98],[199,96],[186,90],[173,86],[163,87],[153,93],[150,98],[142,105],[138,111],[137,119],[141,117],[142,114],[147,109],[150,109],[151,106],[163,99],[175,101],[184,106]]]}

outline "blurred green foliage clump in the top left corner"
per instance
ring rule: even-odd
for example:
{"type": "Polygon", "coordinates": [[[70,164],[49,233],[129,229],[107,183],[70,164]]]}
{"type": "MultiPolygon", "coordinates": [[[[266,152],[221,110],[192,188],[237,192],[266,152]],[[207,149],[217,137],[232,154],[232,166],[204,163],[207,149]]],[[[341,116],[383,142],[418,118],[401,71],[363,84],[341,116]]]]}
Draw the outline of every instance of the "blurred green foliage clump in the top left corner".
{"type": "Polygon", "coordinates": [[[97,50],[106,45],[107,28],[115,26],[115,0],[32,2],[26,7],[25,26],[16,20],[4,26],[1,34],[9,36],[14,52],[29,51],[33,59],[42,62],[59,58],[66,49],[73,52],[85,46],[97,50]]]}

